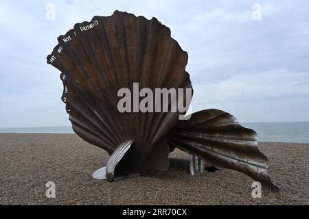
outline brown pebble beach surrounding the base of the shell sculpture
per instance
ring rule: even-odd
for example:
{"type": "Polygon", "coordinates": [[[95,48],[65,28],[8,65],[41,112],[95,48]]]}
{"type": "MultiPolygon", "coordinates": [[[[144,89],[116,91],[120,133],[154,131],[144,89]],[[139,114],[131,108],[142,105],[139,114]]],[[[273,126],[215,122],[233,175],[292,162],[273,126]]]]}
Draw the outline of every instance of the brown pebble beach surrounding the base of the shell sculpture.
{"type": "Polygon", "coordinates": [[[253,179],[234,170],[190,175],[189,155],[170,153],[167,172],[108,182],[92,173],[108,154],[76,134],[0,133],[0,205],[308,205],[309,144],[259,142],[279,194],[251,196],[253,179]],[[47,198],[45,184],[56,185],[47,198]]]}

